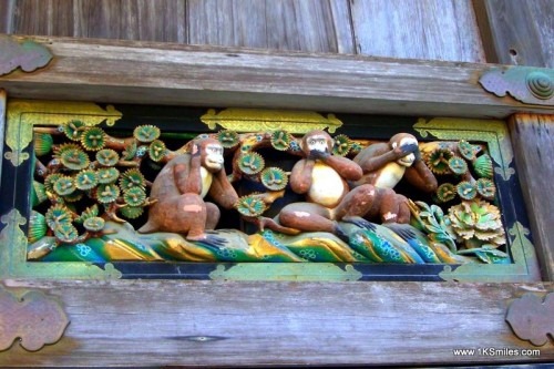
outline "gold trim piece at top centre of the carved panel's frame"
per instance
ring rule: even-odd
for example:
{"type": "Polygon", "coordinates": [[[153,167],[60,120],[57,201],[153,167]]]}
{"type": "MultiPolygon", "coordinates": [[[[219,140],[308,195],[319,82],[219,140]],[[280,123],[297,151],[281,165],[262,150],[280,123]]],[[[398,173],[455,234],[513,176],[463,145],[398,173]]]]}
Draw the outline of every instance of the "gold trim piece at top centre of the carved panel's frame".
{"type": "Polygon", "coordinates": [[[211,109],[201,116],[201,121],[211,130],[215,130],[218,124],[226,130],[237,132],[285,130],[304,134],[312,130],[328,129],[329,133],[335,133],[342,126],[342,122],[334,114],[325,117],[316,112],[239,107],[225,109],[219,113],[211,109]]]}

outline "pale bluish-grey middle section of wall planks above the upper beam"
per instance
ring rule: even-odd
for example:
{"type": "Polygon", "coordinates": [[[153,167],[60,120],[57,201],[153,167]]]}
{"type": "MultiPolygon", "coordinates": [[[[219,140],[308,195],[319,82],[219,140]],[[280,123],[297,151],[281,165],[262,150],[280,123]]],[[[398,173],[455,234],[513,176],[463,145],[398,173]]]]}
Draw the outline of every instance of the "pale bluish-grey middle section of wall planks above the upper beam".
{"type": "Polygon", "coordinates": [[[189,0],[188,42],[353,53],[347,0],[189,0]]]}

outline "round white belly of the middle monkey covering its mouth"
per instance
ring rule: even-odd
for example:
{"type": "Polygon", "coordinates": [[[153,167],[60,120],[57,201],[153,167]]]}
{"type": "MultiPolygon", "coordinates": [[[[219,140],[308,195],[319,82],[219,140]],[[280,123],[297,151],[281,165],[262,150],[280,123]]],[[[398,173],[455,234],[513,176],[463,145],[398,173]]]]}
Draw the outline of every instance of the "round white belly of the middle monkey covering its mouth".
{"type": "Polygon", "coordinates": [[[332,167],[316,163],[311,172],[311,187],[308,192],[308,196],[312,202],[334,207],[338,204],[345,191],[345,182],[332,167]]]}

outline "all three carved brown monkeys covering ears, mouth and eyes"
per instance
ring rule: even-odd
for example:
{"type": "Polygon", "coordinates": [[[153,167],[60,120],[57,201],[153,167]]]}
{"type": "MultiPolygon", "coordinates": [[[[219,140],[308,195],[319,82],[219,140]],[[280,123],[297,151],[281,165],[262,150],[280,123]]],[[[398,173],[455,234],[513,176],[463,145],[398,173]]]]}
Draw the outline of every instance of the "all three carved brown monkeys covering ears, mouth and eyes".
{"type": "MultiPolygon", "coordinates": [[[[419,191],[437,189],[417,139],[408,133],[369,145],[352,160],[334,155],[334,140],[325,131],[307,133],[300,146],[302,158],[294,165],[289,184],[293,192],[305,195],[305,202],[284,206],[274,219],[258,222],[260,227],[289,234],[329,232],[347,239],[339,222],[366,227],[367,221],[409,223],[408,198],[393,189],[402,178],[419,191]]],[[[203,240],[219,221],[217,205],[233,208],[238,202],[225,173],[222,144],[198,139],[191,147],[165,164],[155,178],[151,197],[157,202],[140,233],[173,232],[203,240]]]]}

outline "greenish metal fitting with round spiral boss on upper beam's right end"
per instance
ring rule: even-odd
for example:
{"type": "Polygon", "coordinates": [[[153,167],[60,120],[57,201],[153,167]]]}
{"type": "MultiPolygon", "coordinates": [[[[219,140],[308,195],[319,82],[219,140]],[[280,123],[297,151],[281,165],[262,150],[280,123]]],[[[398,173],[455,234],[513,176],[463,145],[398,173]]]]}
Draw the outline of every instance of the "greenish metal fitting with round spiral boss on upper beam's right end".
{"type": "Polygon", "coordinates": [[[494,68],[481,75],[484,90],[535,105],[554,106],[554,70],[532,66],[494,68]]]}

